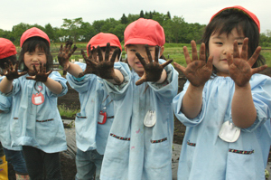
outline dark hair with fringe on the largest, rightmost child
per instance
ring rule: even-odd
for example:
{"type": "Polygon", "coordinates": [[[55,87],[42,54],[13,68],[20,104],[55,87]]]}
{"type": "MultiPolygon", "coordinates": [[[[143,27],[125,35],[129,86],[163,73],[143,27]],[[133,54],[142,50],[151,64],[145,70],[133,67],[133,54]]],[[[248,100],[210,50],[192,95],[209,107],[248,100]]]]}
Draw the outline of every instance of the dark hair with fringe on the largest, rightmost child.
{"type": "MultiPolygon", "coordinates": [[[[209,57],[210,36],[213,33],[227,33],[227,35],[229,35],[235,28],[238,33],[243,33],[245,37],[248,37],[248,58],[252,56],[259,44],[257,24],[242,11],[238,9],[227,9],[220,14],[217,14],[205,27],[205,31],[202,35],[202,42],[205,43],[207,58],[209,57]]],[[[252,68],[257,68],[265,63],[265,58],[262,55],[259,55],[252,68]]],[[[213,73],[216,73],[215,68],[213,68],[213,73]]]]}

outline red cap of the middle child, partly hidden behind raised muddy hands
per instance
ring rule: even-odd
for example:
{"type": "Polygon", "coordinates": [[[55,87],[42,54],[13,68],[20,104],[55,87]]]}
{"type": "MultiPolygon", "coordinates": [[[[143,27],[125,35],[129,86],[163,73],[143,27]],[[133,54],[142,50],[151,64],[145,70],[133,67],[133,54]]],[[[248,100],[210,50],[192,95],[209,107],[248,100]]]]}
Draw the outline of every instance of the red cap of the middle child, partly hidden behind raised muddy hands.
{"type": "Polygon", "coordinates": [[[99,47],[106,47],[107,43],[110,43],[110,46],[116,46],[122,51],[121,44],[119,42],[119,39],[117,38],[117,35],[114,35],[113,33],[98,33],[94,35],[90,40],[89,43],[87,44],[87,52],[89,54],[89,44],[91,45],[91,50],[92,47],[94,46],[97,48],[99,47]]]}

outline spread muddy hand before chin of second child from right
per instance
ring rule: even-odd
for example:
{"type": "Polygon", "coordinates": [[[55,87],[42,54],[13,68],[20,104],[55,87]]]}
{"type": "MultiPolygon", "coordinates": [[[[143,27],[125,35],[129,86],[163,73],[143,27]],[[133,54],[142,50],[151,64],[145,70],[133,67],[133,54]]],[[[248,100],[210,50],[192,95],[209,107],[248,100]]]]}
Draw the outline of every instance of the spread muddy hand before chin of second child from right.
{"type": "Polygon", "coordinates": [[[154,61],[151,55],[151,52],[149,50],[149,46],[145,44],[145,51],[148,56],[148,62],[145,62],[145,59],[140,55],[140,53],[135,52],[135,55],[137,56],[138,60],[143,65],[145,72],[140,80],[135,82],[135,85],[140,85],[145,81],[159,81],[161,79],[162,71],[164,70],[164,67],[167,66],[169,63],[173,62],[173,60],[168,60],[167,62],[164,62],[163,64],[160,64],[158,62],[158,55],[159,55],[159,46],[155,46],[155,57],[154,61]]]}

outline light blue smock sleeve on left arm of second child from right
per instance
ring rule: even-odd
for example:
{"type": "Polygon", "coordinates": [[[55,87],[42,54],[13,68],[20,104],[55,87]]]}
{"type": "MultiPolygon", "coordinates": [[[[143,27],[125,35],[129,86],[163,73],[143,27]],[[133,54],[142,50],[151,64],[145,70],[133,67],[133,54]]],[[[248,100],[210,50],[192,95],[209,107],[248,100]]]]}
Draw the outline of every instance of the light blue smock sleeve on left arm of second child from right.
{"type": "Polygon", "coordinates": [[[115,62],[114,69],[117,69],[122,73],[122,75],[124,76],[124,81],[119,85],[113,84],[106,80],[102,81],[105,85],[105,89],[107,90],[109,96],[113,100],[117,100],[123,98],[126,94],[126,90],[128,89],[128,86],[131,83],[131,71],[129,66],[124,62],[115,62]]]}

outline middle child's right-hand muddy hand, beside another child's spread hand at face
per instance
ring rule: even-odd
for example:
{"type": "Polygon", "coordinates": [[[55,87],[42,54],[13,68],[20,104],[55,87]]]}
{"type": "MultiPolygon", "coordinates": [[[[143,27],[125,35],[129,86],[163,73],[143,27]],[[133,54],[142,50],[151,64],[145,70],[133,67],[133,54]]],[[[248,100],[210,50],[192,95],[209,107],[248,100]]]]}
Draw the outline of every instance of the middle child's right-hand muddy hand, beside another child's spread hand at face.
{"type": "Polygon", "coordinates": [[[79,73],[79,78],[84,76],[85,74],[98,75],[97,49],[95,49],[95,47],[93,46],[92,51],[90,51],[90,45],[89,45],[88,51],[89,51],[89,57],[87,57],[86,53],[83,50],[81,50],[81,54],[82,54],[85,62],[87,63],[87,67],[86,67],[85,71],[79,73]]]}

